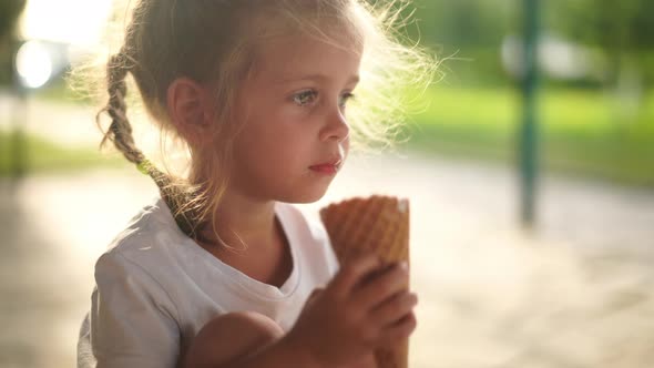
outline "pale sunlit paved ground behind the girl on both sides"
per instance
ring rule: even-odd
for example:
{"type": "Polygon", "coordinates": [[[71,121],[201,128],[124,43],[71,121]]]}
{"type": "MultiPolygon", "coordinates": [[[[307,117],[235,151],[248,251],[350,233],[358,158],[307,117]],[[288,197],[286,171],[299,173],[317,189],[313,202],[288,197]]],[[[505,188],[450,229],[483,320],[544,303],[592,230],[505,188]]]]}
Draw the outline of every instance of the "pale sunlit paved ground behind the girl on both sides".
{"type": "MultiPolygon", "coordinates": [[[[155,187],[135,170],[0,186],[0,367],[74,366],[93,263],[155,187]]],[[[654,193],[545,178],[525,234],[509,170],[379,156],[304,207],[370,193],[411,200],[411,367],[653,366],[654,193]]]]}

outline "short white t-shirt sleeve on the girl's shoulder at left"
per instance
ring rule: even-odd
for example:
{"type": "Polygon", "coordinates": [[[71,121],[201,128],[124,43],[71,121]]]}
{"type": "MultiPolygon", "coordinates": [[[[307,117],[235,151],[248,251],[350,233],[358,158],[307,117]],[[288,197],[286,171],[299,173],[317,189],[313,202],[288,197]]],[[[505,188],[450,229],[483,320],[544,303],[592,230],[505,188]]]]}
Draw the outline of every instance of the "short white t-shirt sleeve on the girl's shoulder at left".
{"type": "Polygon", "coordinates": [[[167,368],[177,365],[176,309],[162,286],[117,252],[95,265],[90,341],[96,368],[167,368]]]}

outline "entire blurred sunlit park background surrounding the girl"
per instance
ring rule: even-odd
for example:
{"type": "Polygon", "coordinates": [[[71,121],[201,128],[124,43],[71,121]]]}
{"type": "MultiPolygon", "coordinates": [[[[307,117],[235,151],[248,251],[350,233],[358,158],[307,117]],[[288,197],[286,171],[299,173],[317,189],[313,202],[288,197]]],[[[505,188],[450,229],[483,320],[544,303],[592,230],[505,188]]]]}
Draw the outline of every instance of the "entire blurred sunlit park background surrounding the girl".
{"type": "MultiPolygon", "coordinates": [[[[156,195],[64,80],[111,2],[0,0],[0,368],[75,364],[94,262],[156,195]]],[[[653,367],[654,2],[415,4],[444,75],[410,140],[303,208],[410,198],[411,367],[653,367]]]]}

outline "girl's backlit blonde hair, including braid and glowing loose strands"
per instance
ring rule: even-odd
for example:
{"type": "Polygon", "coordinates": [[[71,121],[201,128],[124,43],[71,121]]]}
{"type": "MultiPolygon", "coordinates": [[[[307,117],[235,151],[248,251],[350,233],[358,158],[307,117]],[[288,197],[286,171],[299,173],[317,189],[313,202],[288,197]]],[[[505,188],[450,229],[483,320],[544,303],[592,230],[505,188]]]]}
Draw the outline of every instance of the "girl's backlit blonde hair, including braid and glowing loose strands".
{"type": "Polygon", "coordinates": [[[211,223],[212,235],[229,247],[217,234],[212,215],[228,185],[232,140],[238,131],[231,119],[233,101],[239,81],[251,72],[256,42],[274,37],[279,25],[333,43],[338,42],[325,24],[350,30],[351,41],[364,44],[361,80],[348,108],[352,150],[391,147],[402,122],[402,92],[425,89],[438,64],[429,52],[407,44],[401,32],[407,6],[407,1],[370,4],[364,0],[137,0],[122,47],[105,67],[109,102],[96,121],[102,129],[101,116],[106,113],[111,124],[102,129],[101,147],[112,141],[126,160],[154,178],[186,235],[210,242],[201,231],[211,223]],[[186,145],[186,177],[159,170],[133,139],[125,102],[127,74],[157,127],[175,140],[181,136],[166,112],[168,85],[185,76],[213,86],[218,113],[214,140],[222,143],[221,150],[186,145]]]}

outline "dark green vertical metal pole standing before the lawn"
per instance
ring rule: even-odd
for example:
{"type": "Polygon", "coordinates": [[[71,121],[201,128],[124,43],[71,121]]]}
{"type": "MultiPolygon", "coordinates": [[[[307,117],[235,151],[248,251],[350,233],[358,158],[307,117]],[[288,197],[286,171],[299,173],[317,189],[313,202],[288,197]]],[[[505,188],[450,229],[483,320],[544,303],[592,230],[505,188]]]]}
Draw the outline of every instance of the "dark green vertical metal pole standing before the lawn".
{"type": "Polygon", "coordinates": [[[521,223],[532,228],[535,223],[538,180],[538,39],[539,0],[523,0],[523,65],[522,106],[523,122],[520,131],[521,223]]]}

